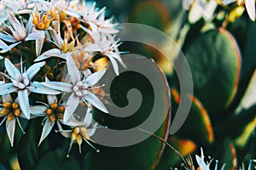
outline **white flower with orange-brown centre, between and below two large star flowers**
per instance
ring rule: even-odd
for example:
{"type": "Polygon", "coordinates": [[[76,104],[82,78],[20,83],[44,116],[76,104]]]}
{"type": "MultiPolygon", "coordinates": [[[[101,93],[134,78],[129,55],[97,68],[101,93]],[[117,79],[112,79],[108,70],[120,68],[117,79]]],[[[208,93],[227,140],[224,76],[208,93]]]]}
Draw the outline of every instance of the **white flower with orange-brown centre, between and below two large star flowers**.
{"type": "Polygon", "coordinates": [[[52,127],[54,127],[55,122],[58,127],[61,126],[60,121],[63,117],[63,112],[65,107],[57,103],[57,98],[55,95],[47,95],[48,104],[44,105],[34,105],[30,108],[32,116],[45,116],[44,117],[44,127],[39,141],[40,145],[43,140],[49,135],[52,127]]]}

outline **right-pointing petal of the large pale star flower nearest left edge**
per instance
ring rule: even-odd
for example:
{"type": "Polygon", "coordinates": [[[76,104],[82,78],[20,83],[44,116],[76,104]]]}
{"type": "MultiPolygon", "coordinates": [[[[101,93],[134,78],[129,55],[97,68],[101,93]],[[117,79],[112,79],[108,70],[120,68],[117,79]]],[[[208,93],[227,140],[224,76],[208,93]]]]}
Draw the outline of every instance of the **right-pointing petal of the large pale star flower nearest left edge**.
{"type": "Polygon", "coordinates": [[[35,94],[61,94],[61,92],[44,86],[43,82],[31,82],[30,87],[27,87],[32,93],[35,94]]]}

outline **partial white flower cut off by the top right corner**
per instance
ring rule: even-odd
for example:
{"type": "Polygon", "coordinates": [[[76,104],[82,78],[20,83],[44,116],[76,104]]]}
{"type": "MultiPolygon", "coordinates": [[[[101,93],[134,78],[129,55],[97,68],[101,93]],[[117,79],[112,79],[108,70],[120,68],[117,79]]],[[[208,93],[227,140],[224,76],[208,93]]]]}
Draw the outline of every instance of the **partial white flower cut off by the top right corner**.
{"type": "Polygon", "coordinates": [[[247,8],[247,14],[249,15],[251,20],[255,20],[255,0],[223,0],[223,5],[228,5],[230,3],[237,2],[238,5],[245,3],[245,7],[247,8]]]}

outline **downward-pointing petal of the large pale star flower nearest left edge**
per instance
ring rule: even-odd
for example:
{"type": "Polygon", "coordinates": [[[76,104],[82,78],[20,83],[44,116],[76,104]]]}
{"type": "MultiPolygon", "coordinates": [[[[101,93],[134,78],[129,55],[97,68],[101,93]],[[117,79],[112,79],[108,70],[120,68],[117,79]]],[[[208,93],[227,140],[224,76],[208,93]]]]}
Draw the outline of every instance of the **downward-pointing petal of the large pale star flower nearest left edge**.
{"type": "Polygon", "coordinates": [[[20,109],[21,111],[23,111],[24,115],[26,116],[26,119],[30,119],[29,99],[28,99],[27,89],[18,91],[18,101],[20,104],[20,109]]]}

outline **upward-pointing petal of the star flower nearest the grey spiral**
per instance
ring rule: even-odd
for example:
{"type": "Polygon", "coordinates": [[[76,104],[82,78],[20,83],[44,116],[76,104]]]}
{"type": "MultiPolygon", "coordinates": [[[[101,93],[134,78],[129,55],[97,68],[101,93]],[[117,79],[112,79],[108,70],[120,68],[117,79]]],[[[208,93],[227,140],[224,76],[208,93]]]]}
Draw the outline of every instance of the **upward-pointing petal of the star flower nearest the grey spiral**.
{"type": "Polygon", "coordinates": [[[67,71],[73,84],[81,81],[81,74],[71,55],[67,55],[67,71]]]}

